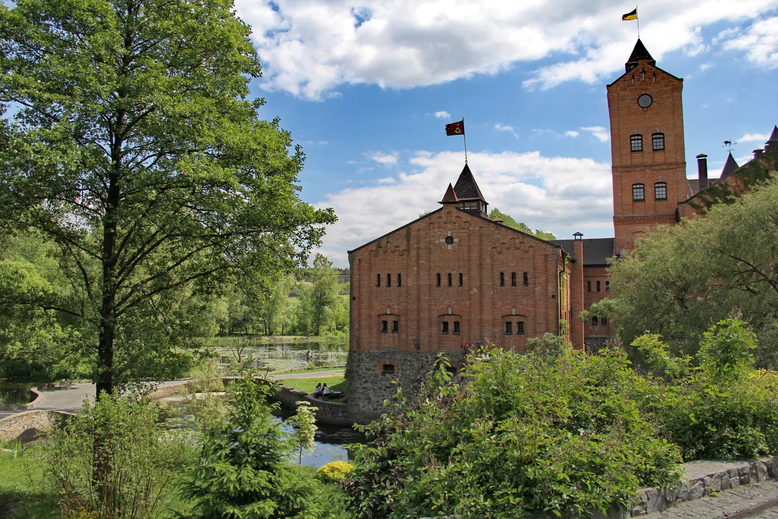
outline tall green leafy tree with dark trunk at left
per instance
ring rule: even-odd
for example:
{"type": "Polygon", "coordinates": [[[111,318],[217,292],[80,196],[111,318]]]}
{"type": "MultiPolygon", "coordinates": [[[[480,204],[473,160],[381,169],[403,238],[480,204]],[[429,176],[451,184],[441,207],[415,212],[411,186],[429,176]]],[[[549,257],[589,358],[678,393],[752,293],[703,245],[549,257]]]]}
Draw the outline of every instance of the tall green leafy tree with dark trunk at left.
{"type": "MultiPolygon", "coordinates": [[[[303,265],[331,209],[249,99],[261,74],[229,0],[0,5],[0,217],[58,247],[98,395],[166,362],[180,290],[303,265]]],[[[40,306],[34,298],[18,304],[40,306]]]]}

